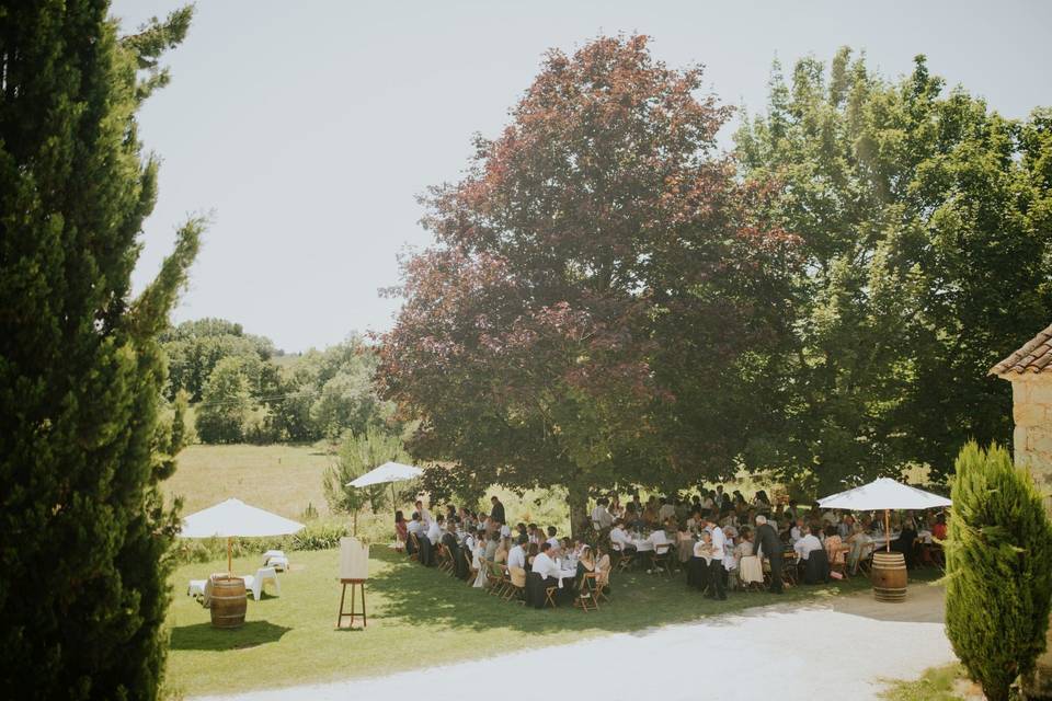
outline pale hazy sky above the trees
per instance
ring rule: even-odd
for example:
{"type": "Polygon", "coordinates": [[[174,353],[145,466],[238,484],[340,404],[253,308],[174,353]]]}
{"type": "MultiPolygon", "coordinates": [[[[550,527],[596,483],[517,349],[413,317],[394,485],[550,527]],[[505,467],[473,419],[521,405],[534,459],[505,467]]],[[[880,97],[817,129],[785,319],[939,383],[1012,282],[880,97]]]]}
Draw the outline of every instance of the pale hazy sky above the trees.
{"type": "MultiPolygon", "coordinates": [[[[132,32],[180,0],[116,0],[132,32]]],[[[193,214],[211,222],[174,321],[221,317],[289,352],[385,331],[398,256],[431,243],[416,197],[459,179],[545,51],[643,33],[702,64],[723,102],[762,111],[771,61],[841,46],[885,76],[931,72],[1010,117],[1052,105],[1052,3],[724,0],[197,0],[171,84],[140,115],[160,195],[135,272],[156,275],[193,214]]],[[[730,146],[731,126],[721,135],[730,146]]]]}

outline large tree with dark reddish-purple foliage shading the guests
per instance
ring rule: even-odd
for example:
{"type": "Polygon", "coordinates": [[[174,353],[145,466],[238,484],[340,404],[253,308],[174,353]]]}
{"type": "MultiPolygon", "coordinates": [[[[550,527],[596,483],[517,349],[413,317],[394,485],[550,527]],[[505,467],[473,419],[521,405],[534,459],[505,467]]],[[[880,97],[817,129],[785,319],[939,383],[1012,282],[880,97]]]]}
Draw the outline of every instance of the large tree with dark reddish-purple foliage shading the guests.
{"type": "Polygon", "coordinates": [[[643,36],[550,51],[500,138],[432,189],[379,381],[411,449],[484,489],[668,487],[733,469],[784,331],[792,239],[744,214],[729,108],[643,36]],[[730,430],[733,428],[733,430],[730,430]]]}

